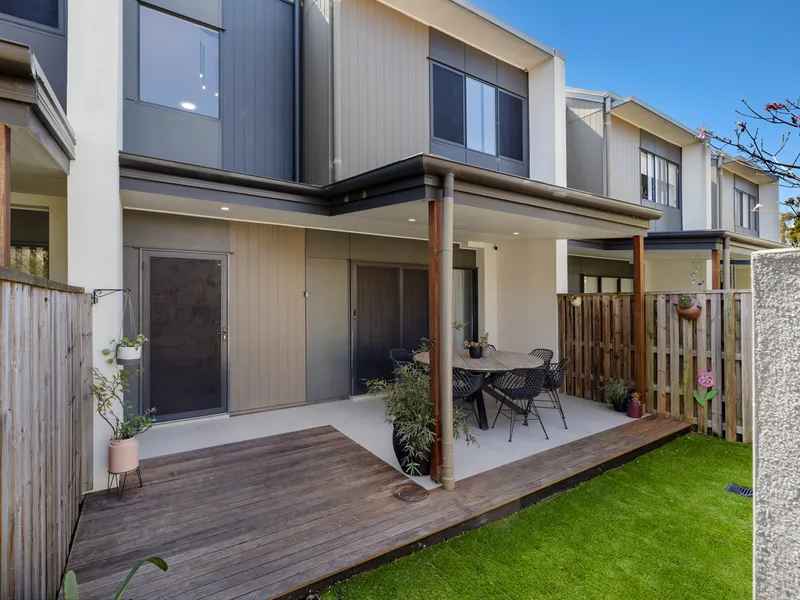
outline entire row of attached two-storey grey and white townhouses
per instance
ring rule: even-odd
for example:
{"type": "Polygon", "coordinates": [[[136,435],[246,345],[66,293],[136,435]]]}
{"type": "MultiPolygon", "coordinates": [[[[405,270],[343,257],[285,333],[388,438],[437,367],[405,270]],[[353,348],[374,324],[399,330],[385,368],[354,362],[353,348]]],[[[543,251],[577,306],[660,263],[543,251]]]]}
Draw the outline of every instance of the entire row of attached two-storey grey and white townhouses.
{"type": "MultiPolygon", "coordinates": [[[[178,443],[191,417],[363,393],[433,313],[556,349],[557,293],[626,289],[643,236],[650,288],[777,238],[771,180],[638,100],[568,91],[557,50],[462,0],[0,12],[14,264],[130,290],[92,308],[95,362],[144,333],[130,399],[178,443]],[[754,197],[761,223],[728,204],[754,197]]],[[[107,440],[96,417],[96,485],[107,440]]]]}

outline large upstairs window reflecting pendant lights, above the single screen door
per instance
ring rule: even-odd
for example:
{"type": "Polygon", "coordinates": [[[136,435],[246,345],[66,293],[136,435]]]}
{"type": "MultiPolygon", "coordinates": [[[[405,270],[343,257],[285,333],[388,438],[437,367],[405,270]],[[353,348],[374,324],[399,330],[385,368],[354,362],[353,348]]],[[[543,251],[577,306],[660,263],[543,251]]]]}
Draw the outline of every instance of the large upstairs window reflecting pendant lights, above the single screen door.
{"type": "Polygon", "coordinates": [[[139,8],[139,99],[219,117],[219,33],[139,8]]]}

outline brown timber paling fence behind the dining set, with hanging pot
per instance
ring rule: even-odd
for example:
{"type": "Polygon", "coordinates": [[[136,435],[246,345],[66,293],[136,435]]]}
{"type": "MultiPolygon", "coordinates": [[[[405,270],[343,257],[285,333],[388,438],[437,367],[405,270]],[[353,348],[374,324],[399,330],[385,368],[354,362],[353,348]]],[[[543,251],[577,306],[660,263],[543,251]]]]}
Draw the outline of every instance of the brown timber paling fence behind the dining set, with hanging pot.
{"type": "MultiPolygon", "coordinates": [[[[753,304],[749,291],[645,294],[645,397],[647,412],[697,425],[729,441],[753,441],[753,304]],[[703,310],[681,318],[678,298],[693,296],[703,310]],[[697,371],[712,371],[718,394],[705,407],[697,371]],[[703,424],[705,426],[703,426],[703,424]]],[[[559,294],[561,356],[570,358],[564,391],[602,400],[612,378],[634,385],[632,294],[559,294]],[[580,306],[571,299],[580,298],[580,306]]]]}

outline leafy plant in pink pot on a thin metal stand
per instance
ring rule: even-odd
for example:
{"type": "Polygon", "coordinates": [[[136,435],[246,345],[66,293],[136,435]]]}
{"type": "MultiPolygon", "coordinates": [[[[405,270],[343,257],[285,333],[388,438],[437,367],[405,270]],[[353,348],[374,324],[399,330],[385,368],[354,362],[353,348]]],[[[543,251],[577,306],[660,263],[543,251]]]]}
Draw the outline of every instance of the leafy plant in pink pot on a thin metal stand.
{"type": "Polygon", "coordinates": [[[139,415],[125,399],[131,381],[137,374],[138,371],[130,373],[115,369],[114,374],[109,376],[94,369],[92,392],[97,398],[97,414],[111,427],[111,439],[108,441],[109,473],[127,473],[139,466],[139,440],[136,436],[150,429],[156,420],[155,408],[139,415]]]}

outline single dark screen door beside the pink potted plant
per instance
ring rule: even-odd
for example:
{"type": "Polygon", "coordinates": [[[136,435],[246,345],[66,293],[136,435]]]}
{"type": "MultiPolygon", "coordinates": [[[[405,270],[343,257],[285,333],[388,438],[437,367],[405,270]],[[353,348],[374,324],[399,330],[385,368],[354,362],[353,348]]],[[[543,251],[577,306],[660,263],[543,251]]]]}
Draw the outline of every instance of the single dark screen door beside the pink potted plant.
{"type": "Polygon", "coordinates": [[[146,250],[142,404],[159,421],[227,410],[224,254],[146,250]]]}

